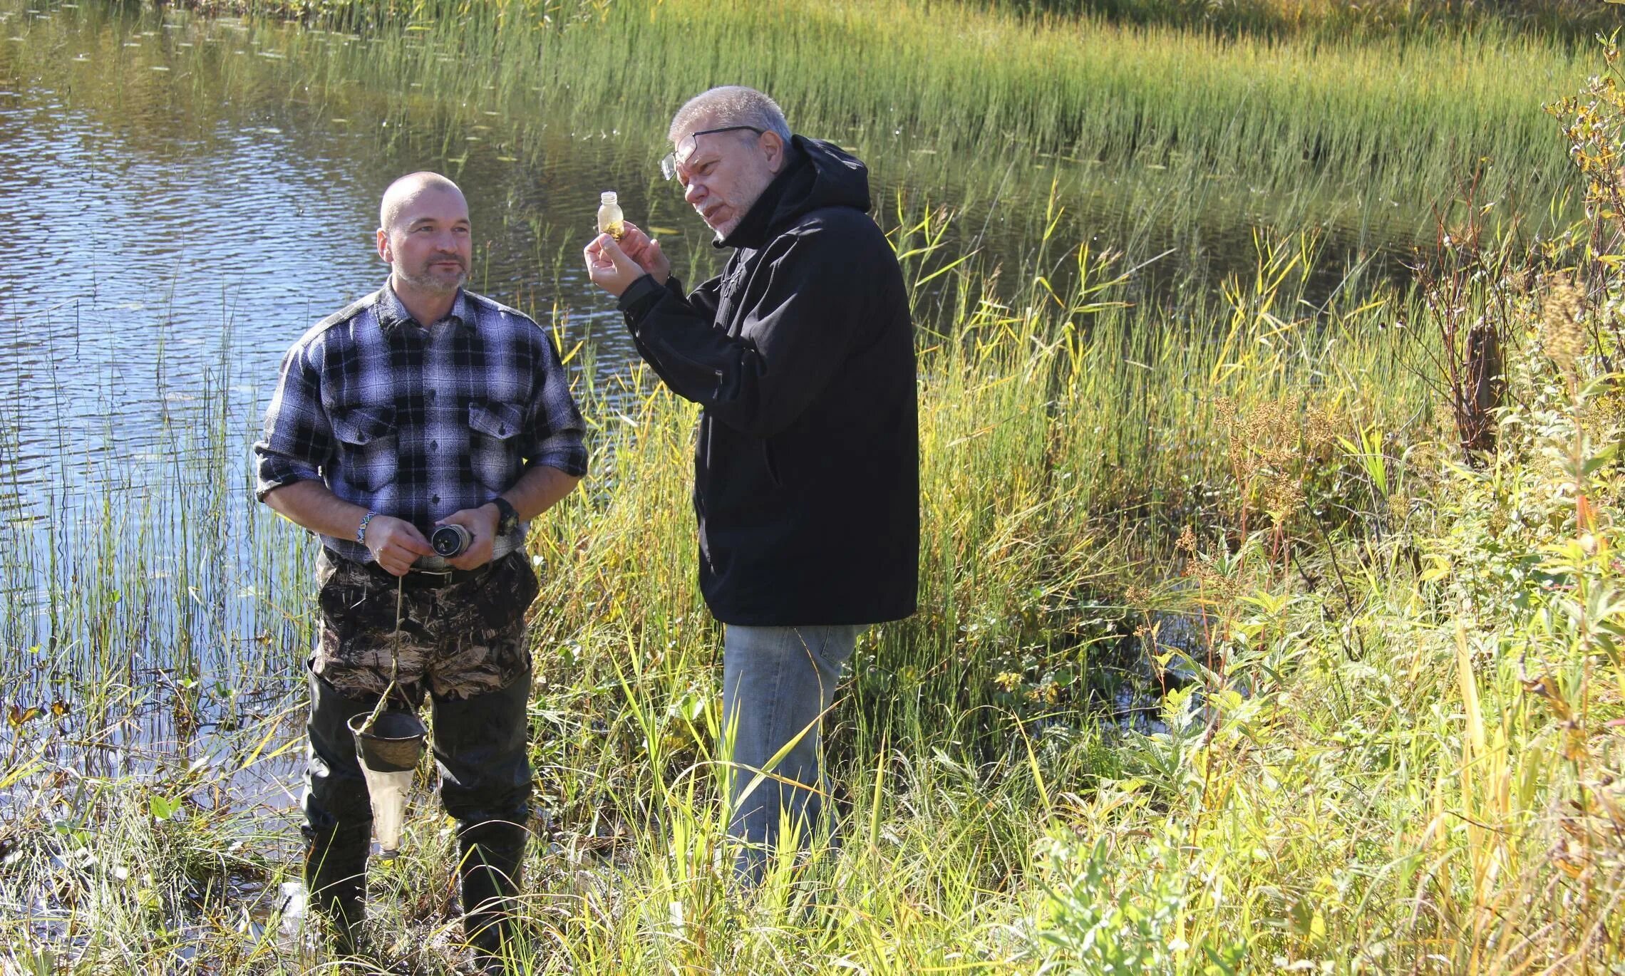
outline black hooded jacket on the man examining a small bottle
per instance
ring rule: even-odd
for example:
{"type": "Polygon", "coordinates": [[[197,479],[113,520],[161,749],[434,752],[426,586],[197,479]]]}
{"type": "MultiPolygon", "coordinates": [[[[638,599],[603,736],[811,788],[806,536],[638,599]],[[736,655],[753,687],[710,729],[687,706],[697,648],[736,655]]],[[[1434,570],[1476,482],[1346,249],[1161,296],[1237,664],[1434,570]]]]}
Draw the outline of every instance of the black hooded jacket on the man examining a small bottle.
{"type": "Polygon", "coordinates": [[[915,611],[920,434],[902,270],[861,162],[795,136],[786,169],[684,296],[621,296],[639,352],[699,403],[700,589],[723,624],[878,624],[915,611]]]}

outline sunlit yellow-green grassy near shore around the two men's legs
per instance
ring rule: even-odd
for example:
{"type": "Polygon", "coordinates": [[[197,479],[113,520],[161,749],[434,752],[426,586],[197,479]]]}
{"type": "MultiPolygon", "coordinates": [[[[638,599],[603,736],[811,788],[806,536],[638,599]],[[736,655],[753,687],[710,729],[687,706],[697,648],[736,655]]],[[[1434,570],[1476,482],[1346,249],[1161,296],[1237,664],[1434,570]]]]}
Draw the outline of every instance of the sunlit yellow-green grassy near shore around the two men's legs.
{"type": "MultiPolygon", "coordinates": [[[[1573,133],[1625,133],[1606,71],[1573,133]]],[[[1625,174],[1596,159],[1581,231],[1610,253],[1625,174]]],[[[1497,263],[1469,239],[1436,268],[1453,300],[1308,302],[1311,235],[1261,232],[1251,274],[1134,305],[1090,247],[954,263],[934,216],[889,226],[933,307],[921,612],[863,640],[832,716],[845,849],[728,892],[694,408],[580,362],[601,463],[531,538],[533,971],[1617,966],[1612,258],[1570,239],[1497,263]],[[1471,464],[1433,369],[1451,317],[1505,341],[1500,451],[1471,464]],[[1134,680],[1159,724],[1118,721],[1134,680]]],[[[575,348],[569,309],[536,312],[575,348]]],[[[176,417],[145,497],[0,551],[0,580],[47,583],[0,606],[3,966],[332,961],[275,932],[312,549],[252,502],[231,365],[223,344],[214,406],[176,417]]],[[[450,862],[422,789],[372,879],[379,971],[452,971],[450,862]]]]}

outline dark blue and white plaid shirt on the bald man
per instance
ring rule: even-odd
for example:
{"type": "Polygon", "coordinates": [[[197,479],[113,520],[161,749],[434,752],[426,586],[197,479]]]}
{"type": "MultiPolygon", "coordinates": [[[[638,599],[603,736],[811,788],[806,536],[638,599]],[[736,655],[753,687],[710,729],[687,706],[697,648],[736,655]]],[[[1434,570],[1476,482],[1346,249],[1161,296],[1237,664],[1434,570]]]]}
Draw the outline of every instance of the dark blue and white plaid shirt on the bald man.
{"type": "MultiPolygon", "coordinates": [[[[548,335],[462,291],[434,328],[388,283],[310,328],[283,357],[254,445],[255,495],[322,479],[335,495],[427,531],[478,508],[533,464],[587,474],[585,424],[548,335]]],[[[522,544],[517,538],[499,541],[522,544]]],[[[354,538],[322,536],[370,562],[354,538]]]]}

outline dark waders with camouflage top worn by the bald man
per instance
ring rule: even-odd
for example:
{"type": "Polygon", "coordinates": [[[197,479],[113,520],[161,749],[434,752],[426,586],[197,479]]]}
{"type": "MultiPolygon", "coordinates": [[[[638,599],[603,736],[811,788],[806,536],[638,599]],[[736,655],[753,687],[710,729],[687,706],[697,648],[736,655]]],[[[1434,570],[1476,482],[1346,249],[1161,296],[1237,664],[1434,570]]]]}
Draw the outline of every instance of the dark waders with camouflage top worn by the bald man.
{"type": "MultiPolygon", "coordinates": [[[[317,560],[322,630],[310,659],[306,765],[306,887],[354,950],[366,911],[372,807],[348,721],[370,711],[390,679],[395,577],[370,564],[317,560]]],[[[396,697],[431,700],[440,802],[458,822],[458,875],[468,940],[492,957],[507,935],[530,815],[525,609],[536,575],[523,551],[448,577],[408,573],[401,591],[396,697]]]]}

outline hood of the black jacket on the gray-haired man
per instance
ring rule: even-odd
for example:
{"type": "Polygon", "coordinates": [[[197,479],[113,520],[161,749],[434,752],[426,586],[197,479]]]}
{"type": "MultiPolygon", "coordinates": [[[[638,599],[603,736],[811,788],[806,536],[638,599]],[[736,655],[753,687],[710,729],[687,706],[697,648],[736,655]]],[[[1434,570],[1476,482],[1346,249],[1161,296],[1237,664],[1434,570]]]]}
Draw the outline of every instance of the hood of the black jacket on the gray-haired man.
{"type": "Polygon", "coordinates": [[[786,162],[739,226],[712,242],[715,247],[762,247],[803,214],[826,206],[869,211],[869,169],[835,143],[793,135],[786,162]]]}

